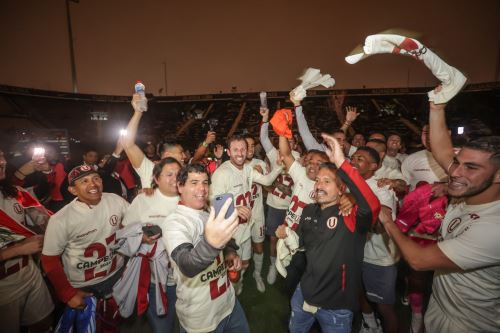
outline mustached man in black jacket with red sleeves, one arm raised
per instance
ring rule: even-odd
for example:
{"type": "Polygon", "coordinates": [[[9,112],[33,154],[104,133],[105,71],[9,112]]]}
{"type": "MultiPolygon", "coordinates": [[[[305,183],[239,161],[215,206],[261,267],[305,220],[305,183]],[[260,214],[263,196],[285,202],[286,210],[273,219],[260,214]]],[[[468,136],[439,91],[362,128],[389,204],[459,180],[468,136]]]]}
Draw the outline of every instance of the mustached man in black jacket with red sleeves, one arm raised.
{"type": "Polygon", "coordinates": [[[339,142],[323,135],[332,163],[319,166],[316,202],[302,212],[297,234],[305,257],[304,273],[291,300],[290,332],[308,332],[317,319],[323,332],[350,332],[358,310],[361,264],[368,229],[380,203],[358,171],[344,157],[339,142]],[[348,216],[339,212],[346,185],[357,205],[348,216]]]}

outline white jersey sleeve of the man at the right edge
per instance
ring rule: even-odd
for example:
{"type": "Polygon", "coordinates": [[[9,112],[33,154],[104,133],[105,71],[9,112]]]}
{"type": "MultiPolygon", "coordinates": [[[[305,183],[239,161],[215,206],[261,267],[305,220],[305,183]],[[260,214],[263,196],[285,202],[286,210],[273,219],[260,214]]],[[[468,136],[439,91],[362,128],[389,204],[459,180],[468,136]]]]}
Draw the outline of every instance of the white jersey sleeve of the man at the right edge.
{"type": "Polygon", "coordinates": [[[463,270],[499,265],[500,224],[490,218],[472,223],[458,237],[438,242],[438,247],[463,270]]]}

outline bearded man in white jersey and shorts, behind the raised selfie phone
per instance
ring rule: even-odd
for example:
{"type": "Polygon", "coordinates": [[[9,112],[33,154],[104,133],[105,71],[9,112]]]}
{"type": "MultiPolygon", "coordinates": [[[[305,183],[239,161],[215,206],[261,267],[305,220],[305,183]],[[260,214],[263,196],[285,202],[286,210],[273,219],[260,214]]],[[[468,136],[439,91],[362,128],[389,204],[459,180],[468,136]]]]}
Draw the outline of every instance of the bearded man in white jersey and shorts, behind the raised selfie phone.
{"type": "Polygon", "coordinates": [[[245,164],[247,156],[247,141],[242,136],[232,136],[227,140],[229,161],[222,163],[212,175],[210,185],[210,200],[224,193],[234,196],[234,203],[238,210],[239,223],[234,235],[238,245],[238,255],[242,260],[242,271],[239,281],[235,285],[236,294],[243,288],[243,274],[251,258],[251,222],[252,215],[252,183],[269,186],[281,173],[282,168],[274,168],[269,174],[262,175],[250,165],[245,164]]]}

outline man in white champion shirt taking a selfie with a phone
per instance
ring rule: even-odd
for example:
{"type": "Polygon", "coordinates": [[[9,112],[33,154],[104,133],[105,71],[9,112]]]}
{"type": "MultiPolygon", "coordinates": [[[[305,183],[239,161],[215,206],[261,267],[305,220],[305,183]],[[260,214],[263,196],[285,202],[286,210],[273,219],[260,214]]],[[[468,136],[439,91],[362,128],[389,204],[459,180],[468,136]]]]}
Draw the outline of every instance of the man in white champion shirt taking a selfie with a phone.
{"type": "Polygon", "coordinates": [[[217,216],[204,209],[209,191],[204,166],[189,164],[177,176],[180,204],[163,224],[163,242],[174,263],[177,316],[181,332],[249,332],[243,309],[227,271],[241,260],[226,246],[238,228],[235,210],[226,219],[230,200],[217,216]]]}

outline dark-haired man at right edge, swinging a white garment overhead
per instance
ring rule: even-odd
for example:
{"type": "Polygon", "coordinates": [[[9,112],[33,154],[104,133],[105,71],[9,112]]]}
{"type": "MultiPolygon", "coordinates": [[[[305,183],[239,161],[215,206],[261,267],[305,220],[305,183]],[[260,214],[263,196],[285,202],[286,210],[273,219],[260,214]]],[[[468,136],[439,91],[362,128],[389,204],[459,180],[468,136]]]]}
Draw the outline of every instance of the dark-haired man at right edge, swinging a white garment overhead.
{"type": "Polygon", "coordinates": [[[436,244],[420,246],[391,216],[381,221],[416,270],[435,270],[425,314],[427,332],[500,329],[500,137],[484,137],[453,151],[445,104],[430,102],[430,144],[447,170],[448,206],[436,244]]]}

